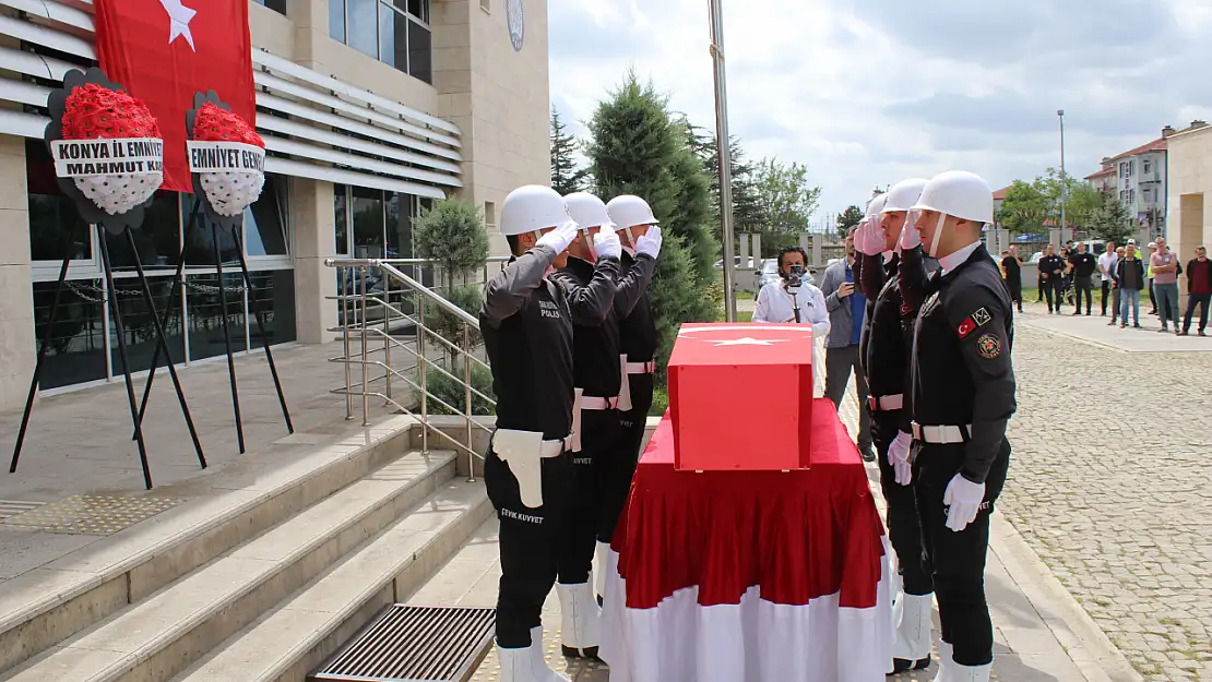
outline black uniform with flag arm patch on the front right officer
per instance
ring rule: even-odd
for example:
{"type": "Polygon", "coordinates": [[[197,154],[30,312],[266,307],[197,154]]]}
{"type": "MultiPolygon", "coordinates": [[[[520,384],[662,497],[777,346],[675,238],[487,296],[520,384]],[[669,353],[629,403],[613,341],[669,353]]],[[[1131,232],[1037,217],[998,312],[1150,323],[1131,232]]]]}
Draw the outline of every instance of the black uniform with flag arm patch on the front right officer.
{"type": "Polygon", "coordinates": [[[915,440],[914,488],[943,641],[955,647],[955,663],[978,666],[993,660],[984,566],[989,516],[1010,465],[1006,423],[1016,409],[1013,310],[983,245],[953,271],[932,276],[925,291],[930,296],[913,344],[913,418],[921,425],[959,426],[965,442],[915,440]],[[976,520],[957,533],[947,527],[943,505],[956,474],[985,485],[976,520]]]}

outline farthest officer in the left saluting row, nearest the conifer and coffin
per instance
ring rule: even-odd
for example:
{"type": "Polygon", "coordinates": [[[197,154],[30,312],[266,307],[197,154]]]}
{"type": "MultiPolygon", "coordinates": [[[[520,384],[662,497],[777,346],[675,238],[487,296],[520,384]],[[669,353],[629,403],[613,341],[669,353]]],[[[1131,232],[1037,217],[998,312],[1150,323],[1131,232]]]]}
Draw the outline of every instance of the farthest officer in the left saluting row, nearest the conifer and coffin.
{"type": "Polygon", "coordinates": [[[648,204],[630,194],[606,205],[610,220],[623,241],[623,276],[614,294],[618,316],[619,359],[624,372],[619,396],[621,439],[606,471],[602,515],[598,527],[595,588],[605,591],[606,555],[614,526],[627,503],[631,476],[640,459],[640,443],[652,407],[652,374],[656,371],[657,325],[648,303],[648,282],[661,253],[661,228],[648,204]]]}

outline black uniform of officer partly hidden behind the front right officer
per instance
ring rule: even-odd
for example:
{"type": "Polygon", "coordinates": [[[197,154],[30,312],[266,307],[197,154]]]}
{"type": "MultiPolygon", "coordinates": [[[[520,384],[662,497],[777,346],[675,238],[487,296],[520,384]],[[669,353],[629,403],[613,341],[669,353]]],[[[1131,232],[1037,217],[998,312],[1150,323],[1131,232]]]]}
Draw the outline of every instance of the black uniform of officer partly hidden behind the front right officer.
{"type": "Polygon", "coordinates": [[[888,540],[897,552],[901,578],[908,595],[928,595],[934,591],[930,572],[924,563],[921,527],[913,487],[896,481],[888,463],[888,447],[901,431],[911,431],[908,409],[909,351],[913,348],[916,306],[902,305],[897,286],[901,257],[893,256],[885,265],[882,256],[863,256],[863,296],[871,302],[863,329],[862,357],[871,400],[864,406],[871,412],[873,440],[879,453],[880,487],[887,503],[888,540]],[[905,407],[881,409],[877,400],[902,396],[905,407]]]}

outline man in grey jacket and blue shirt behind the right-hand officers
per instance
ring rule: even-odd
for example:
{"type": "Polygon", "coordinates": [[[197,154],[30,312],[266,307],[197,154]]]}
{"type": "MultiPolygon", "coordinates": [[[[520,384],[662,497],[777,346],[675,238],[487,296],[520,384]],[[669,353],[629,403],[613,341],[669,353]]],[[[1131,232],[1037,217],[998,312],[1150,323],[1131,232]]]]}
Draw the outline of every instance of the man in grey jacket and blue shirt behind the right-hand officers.
{"type": "Polygon", "coordinates": [[[846,384],[854,374],[858,389],[858,452],[867,462],[875,462],[871,445],[871,415],[867,411],[867,374],[859,357],[863,336],[863,316],[867,297],[854,287],[854,228],[846,234],[846,258],[825,269],[821,279],[821,293],[825,294],[829,310],[829,338],[825,340],[825,397],[841,407],[846,384]]]}

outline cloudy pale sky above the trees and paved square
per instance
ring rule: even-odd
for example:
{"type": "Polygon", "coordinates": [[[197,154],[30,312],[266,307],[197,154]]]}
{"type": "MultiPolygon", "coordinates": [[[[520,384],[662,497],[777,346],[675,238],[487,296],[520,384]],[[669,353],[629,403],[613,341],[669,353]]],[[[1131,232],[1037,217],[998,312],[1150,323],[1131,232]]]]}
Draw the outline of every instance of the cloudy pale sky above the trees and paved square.
{"type": "MultiPolygon", "coordinates": [[[[708,0],[550,0],[551,102],[583,121],[629,67],[714,130],[708,0]]],[[[814,219],[948,168],[1082,177],[1212,120],[1207,0],[725,0],[728,125],[810,167],[814,219]]]]}

